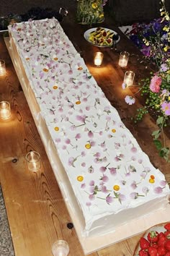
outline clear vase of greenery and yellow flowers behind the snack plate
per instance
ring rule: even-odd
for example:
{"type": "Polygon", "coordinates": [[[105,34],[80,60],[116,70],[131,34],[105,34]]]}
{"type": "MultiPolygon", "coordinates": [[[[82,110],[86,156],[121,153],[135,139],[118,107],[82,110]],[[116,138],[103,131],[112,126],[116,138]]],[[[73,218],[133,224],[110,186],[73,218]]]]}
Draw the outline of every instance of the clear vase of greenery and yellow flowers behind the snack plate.
{"type": "Polygon", "coordinates": [[[77,22],[84,25],[103,22],[102,0],[79,0],[76,18],[77,22]]]}

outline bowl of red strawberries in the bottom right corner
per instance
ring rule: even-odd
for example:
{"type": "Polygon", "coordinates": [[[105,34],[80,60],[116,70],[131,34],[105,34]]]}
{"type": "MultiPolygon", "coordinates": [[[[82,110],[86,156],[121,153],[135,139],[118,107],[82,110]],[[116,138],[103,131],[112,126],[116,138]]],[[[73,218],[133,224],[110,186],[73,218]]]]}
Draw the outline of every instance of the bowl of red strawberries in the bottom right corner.
{"type": "Polygon", "coordinates": [[[170,256],[170,223],[148,229],[140,238],[134,256],[170,256]]]}

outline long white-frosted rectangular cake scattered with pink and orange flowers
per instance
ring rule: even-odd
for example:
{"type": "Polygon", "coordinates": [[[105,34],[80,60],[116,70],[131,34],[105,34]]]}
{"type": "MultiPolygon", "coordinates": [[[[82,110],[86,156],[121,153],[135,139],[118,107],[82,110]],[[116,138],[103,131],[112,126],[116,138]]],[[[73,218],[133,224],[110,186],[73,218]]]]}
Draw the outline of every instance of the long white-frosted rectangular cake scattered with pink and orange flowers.
{"type": "Polygon", "coordinates": [[[15,66],[26,73],[22,85],[37,129],[55,175],[65,180],[61,192],[82,236],[106,234],[166,208],[164,175],[122,123],[58,21],[10,25],[9,35],[15,66]]]}

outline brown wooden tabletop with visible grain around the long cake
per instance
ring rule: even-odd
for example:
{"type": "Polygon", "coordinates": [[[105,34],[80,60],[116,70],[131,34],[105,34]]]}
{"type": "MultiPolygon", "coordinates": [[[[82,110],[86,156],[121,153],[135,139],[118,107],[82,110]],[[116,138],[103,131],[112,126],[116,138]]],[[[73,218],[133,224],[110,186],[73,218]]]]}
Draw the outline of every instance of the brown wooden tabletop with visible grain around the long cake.
{"type": "MultiPolygon", "coordinates": [[[[110,48],[97,48],[88,43],[84,39],[84,32],[90,27],[76,24],[74,17],[66,17],[61,25],[76,50],[81,53],[91,74],[112,106],[117,108],[126,127],[138,140],[143,151],[148,154],[153,165],[159,168],[165,174],[166,180],[170,182],[169,163],[158,156],[151,137],[151,132],[156,129],[156,122],[148,114],[140,124],[134,124],[131,117],[134,116],[136,108],[143,104],[143,99],[137,97],[133,106],[128,106],[124,100],[127,90],[125,93],[121,85],[125,71],[135,72],[135,84],[138,84],[138,81],[149,72],[145,65],[140,63],[141,56],[138,49],[109,18],[102,27],[108,27],[120,33],[117,52],[110,48]],[[102,67],[94,67],[95,51],[102,51],[104,54],[102,67]],[[118,66],[120,51],[130,52],[128,67],[125,69],[118,66]]],[[[71,223],[71,218],[2,35],[0,36],[0,53],[1,59],[6,61],[6,75],[0,77],[0,101],[9,101],[12,106],[12,119],[0,122],[0,182],[15,254],[22,256],[24,252],[24,256],[52,255],[53,242],[64,239],[70,247],[69,255],[84,255],[75,229],[67,227],[67,224],[71,223]],[[32,173],[27,169],[24,158],[30,150],[38,151],[42,157],[42,168],[38,173],[32,173]]],[[[128,94],[135,92],[135,88],[128,90],[128,94]]],[[[169,136],[170,133],[167,130],[168,143],[169,136]]],[[[90,255],[132,256],[139,238],[140,234],[90,255]]]]}

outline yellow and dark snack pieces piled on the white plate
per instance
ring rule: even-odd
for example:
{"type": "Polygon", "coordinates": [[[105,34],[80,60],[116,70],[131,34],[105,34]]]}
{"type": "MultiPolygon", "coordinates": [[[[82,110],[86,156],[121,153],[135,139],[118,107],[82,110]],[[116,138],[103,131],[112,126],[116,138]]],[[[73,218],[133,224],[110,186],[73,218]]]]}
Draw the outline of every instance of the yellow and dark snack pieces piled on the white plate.
{"type": "Polygon", "coordinates": [[[97,27],[96,30],[89,33],[89,41],[97,46],[112,46],[112,37],[114,34],[112,30],[97,27]]]}

